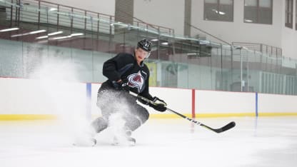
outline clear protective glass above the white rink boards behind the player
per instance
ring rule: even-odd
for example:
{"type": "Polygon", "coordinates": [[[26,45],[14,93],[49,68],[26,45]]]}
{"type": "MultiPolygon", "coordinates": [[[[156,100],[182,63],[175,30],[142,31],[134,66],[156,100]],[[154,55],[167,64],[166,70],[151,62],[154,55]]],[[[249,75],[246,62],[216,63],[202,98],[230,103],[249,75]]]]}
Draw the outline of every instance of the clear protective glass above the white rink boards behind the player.
{"type": "MultiPolygon", "coordinates": [[[[2,39],[0,43],[0,74],[4,77],[30,78],[41,66],[55,61],[56,66],[63,66],[64,62],[71,64],[77,81],[103,82],[106,80],[102,75],[103,63],[116,55],[2,39]]],[[[278,66],[277,60],[266,56],[248,51],[233,51],[232,55],[230,49],[213,49],[211,56],[176,56],[168,55],[168,58],[181,62],[162,61],[153,56],[146,60],[156,70],[152,71],[153,86],[297,94],[294,71],[278,66]]]]}

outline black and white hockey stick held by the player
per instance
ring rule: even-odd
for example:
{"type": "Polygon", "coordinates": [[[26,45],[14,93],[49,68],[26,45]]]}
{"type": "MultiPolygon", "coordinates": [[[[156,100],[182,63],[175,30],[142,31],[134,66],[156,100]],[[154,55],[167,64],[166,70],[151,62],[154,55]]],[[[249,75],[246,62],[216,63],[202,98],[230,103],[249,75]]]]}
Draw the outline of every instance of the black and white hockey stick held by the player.
{"type": "MultiPolygon", "coordinates": [[[[136,93],[134,93],[134,92],[131,92],[131,91],[130,91],[130,94],[133,95],[133,96],[136,96],[137,98],[141,98],[141,100],[146,101],[147,103],[151,103],[151,104],[153,104],[153,105],[156,105],[155,102],[153,102],[153,101],[151,101],[151,100],[149,100],[148,98],[145,98],[145,97],[143,97],[143,96],[139,96],[138,94],[136,94],[136,93]]],[[[185,119],[188,120],[188,121],[191,121],[191,122],[193,122],[193,123],[196,123],[197,125],[202,126],[202,127],[204,127],[204,128],[207,128],[208,130],[214,131],[214,132],[216,132],[216,133],[221,133],[221,132],[223,132],[223,131],[227,131],[227,130],[233,128],[233,127],[236,125],[236,123],[235,123],[234,121],[231,121],[231,122],[228,123],[226,126],[223,126],[223,127],[221,127],[221,128],[211,128],[211,127],[209,127],[209,126],[204,125],[203,123],[201,123],[201,122],[199,122],[199,121],[193,120],[192,118],[188,118],[187,116],[184,116],[184,115],[181,114],[181,113],[178,113],[178,112],[176,112],[176,111],[173,111],[173,110],[171,110],[170,108],[166,108],[166,110],[167,110],[167,111],[171,111],[171,113],[175,113],[176,115],[181,116],[182,118],[185,118],[185,119]]]]}

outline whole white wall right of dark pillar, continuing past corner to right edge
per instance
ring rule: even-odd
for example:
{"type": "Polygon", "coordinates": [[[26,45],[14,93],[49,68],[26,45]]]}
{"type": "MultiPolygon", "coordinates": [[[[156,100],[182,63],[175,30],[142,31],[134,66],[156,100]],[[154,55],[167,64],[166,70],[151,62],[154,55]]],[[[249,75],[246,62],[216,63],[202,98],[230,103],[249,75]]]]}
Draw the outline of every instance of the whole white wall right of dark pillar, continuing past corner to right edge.
{"type": "MultiPolygon", "coordinates": [[[[295,30],[295,1],[293,29],[285,27],[285,1],[273,0],[273,24],[248,24],[243,22],[244,0],[234,1],[233,22],[204,21],[203,0],[192,1],[192,24],[229,43],[233,41],[260,43],[283,49],[283,56],[297,59],[295,30]]],[[[192,29],[192,35],[198,31],[192,29]]]]}

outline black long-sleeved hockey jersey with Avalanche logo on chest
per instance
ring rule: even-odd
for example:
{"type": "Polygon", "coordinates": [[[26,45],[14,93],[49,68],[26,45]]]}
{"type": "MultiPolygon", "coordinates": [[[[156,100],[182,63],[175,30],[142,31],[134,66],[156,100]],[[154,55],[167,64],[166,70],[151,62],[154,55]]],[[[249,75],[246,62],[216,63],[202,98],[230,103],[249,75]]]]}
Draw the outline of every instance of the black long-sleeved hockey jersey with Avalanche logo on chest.
{"type": "Polygon", "coordinates": [[[153,99],[148,92],[148,67],[144,62],[139,66],[133,55],[121,53],[105,61],[103,74],[108,80],[102,83],[101,87],[114,88],[112,81],[128,80],[130,91],[150,100],[153,99]]]}

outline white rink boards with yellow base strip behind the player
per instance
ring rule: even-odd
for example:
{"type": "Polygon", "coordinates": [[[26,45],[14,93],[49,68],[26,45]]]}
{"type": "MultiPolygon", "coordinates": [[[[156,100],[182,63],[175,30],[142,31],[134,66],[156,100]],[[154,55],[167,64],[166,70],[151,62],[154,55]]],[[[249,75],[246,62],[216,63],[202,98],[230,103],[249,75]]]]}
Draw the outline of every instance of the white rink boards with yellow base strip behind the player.
{"type": "MultiPolygon", "coordinates": [[[[55,119],[60,115],[96,117],[99,83],[0,78],[0,120],[55,119]]],[[[190,118],[297,116],[297,96],[151,87],[152,96],[190,118]]],[[[178,118],[145,106],[151,118],[178,118]]]]}

